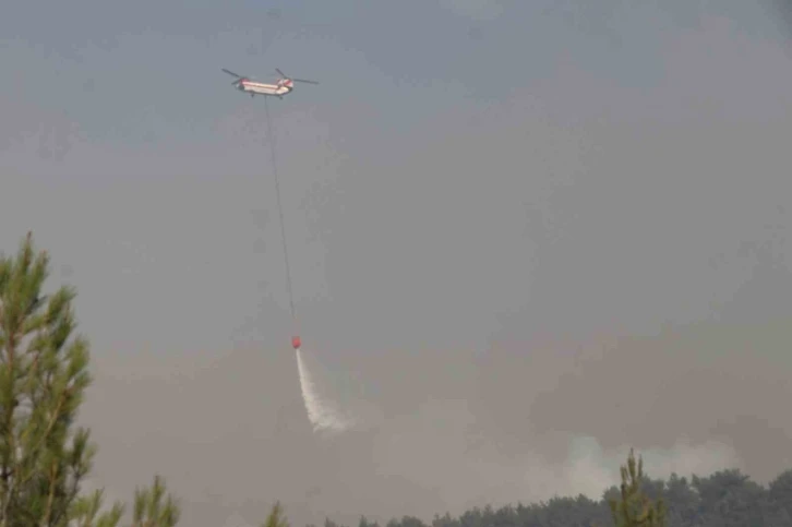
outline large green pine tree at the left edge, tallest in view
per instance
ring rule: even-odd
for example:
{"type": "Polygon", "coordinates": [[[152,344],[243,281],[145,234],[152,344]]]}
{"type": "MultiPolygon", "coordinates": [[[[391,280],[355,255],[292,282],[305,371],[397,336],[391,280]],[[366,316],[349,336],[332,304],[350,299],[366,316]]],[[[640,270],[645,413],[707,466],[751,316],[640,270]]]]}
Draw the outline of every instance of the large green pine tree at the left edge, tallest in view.
{"type": "MultiPolygon", "coordinates": [[[[0,527],[116,527],[123,506],[100,513],[103,491],[81,495],[96,446],[75,428],[91,383],[88,343],[73,335],[75,292],[43,294],[49,256],[28,232],[15,257],[0,255],[0,527]]],[[[158,503],[164,484],[141,491],[158,503]]],[[[176,525],[173,503],[157,527],[176,525]]],[[[154,508],[154,511],[159,511],[154,508]]]]}

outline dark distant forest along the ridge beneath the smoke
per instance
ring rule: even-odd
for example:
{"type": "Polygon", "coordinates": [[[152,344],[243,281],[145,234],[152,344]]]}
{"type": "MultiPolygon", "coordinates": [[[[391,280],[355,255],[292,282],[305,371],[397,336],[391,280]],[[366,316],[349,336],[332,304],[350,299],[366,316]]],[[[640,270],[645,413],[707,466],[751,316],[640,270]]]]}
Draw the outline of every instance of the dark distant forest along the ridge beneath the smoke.
{"type": "MultiPolygon", "coordinates": [[[[641,475],[639,482],[639,492],[663,504],[665,520],[616,525],[792,527],[792,470],[783,471],[767,487],[740,470],[691,479],[672,475],[667,481],[641,475]]],[[[459,517],[436,516],[431,525],[412,516],[393,519],[386,526],[361,518],[358,527],[608,527],[614,525],[611,501],[622,501],[621,489],[615,486],[607,489],[599,501],[579,495],[497,510],[488,506],[467,511],[459,517]]],[[[325,527],[341,526],[327,519],[325,527]]]]}

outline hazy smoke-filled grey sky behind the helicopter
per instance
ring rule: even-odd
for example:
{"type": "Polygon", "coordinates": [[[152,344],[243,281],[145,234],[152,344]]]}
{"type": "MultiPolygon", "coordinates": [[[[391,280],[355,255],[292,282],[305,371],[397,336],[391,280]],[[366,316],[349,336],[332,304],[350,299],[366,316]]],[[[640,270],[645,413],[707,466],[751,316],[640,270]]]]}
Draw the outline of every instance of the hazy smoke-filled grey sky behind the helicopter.
{"type": "Polygon", "coordinates": [[[159,471],[185,525],[276,499],[301,525],[596,494],[629,445],[657,476],[776,475],[784,13],[595,3],[0,19],[0,242],[33,229],[79,288],[110,495],[159,471]],[[269,104],[304,351],[363,416],[346,435],[307,421],[264,103],[220,68],[322,83],[269,104]]]}

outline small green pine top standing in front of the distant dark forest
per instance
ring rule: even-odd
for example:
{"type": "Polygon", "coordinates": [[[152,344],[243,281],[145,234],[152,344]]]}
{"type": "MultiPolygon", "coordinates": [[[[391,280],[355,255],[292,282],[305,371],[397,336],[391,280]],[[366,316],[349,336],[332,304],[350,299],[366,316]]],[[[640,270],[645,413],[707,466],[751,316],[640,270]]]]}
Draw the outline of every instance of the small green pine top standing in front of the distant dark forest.
{"type": "Polygon", "coordinates": [[[644,480],[644,459],[635,460],[629,450],[627,465],[622,466],[621,500],[610,500],[611,514],[616,527],[665,527],[665,505],[661,499],[657,504],[640,489],[644,480]]]}

